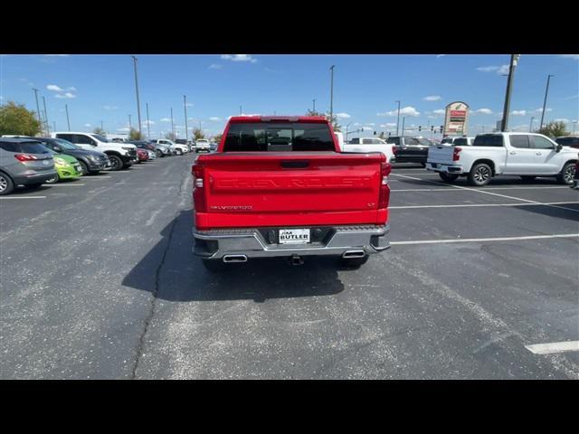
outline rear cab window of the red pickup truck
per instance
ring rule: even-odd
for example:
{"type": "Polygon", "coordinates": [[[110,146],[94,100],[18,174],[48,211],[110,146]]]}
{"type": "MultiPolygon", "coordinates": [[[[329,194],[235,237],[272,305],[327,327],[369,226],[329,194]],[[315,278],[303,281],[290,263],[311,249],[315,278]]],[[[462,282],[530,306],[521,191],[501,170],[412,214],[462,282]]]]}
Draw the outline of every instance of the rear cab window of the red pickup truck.
{"type": "Polygon", "coordinates": [[[229,126],[223,152],[336,152],[325,123],[234,122],[229,126]]]}

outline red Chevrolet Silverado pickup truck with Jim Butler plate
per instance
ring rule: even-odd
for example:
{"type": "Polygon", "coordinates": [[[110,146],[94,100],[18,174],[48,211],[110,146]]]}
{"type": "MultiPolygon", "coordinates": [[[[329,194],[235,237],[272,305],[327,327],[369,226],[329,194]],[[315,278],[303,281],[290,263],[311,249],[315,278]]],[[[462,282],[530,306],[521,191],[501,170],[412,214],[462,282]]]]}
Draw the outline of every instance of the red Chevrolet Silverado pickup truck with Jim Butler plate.
{"type": "Polygon", "coordinates": [[[333,255],[359,267],[390,248],[382,153],[342,153],[323,117],[230,118],[194,175],[195,247],[207,269],[333,255]]]}

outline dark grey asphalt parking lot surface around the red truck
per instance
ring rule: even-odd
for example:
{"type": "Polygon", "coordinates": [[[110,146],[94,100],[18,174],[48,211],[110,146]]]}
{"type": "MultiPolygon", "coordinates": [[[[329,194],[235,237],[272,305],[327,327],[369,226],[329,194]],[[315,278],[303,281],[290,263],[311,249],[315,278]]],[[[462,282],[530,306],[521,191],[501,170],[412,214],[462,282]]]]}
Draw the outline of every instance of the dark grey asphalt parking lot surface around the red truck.
{"type": "Polygon", "coordinates": [[[0,377],[578,379],[579,193],[391,176],[393,247],[233,264],[191,254],[174,156],[0,199],[0,377]],[[532,347],[531,347],[532,348],[532,347]]]}

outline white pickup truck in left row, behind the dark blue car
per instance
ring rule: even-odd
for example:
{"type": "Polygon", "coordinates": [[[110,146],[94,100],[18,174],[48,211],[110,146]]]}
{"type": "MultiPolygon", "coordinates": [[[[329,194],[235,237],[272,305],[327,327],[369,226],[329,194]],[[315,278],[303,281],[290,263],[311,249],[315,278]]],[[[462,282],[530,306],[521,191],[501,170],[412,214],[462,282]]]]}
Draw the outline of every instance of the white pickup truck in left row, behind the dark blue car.
{"type": "Polygon", "coordinates": [[[138,160],[137,146],[130,143],[109,142],[106,137],[93,133],[56,131],[51,137],[63,138],[83,149],[100,151],[109,156],[110,170],[127,168],[138,160]]]}

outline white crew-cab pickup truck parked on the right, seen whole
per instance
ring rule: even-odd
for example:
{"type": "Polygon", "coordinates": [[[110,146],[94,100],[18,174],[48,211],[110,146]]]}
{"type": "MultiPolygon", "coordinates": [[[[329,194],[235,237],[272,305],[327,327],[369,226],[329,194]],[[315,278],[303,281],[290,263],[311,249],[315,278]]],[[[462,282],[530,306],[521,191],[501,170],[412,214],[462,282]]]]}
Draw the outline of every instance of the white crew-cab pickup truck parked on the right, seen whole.
{"type": "Polygon", "coordinates": [[[555,176],[561,184],[572,184],[576,161],[576,149],[541,134],[493,133],[475,137],[472,146],[431,146],[426,168],[446,182],[467,176],[475,186],[489,184],[496,175],[555,176]]]}

